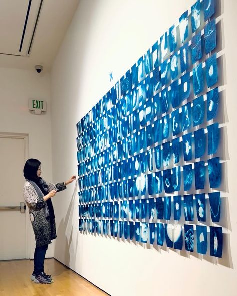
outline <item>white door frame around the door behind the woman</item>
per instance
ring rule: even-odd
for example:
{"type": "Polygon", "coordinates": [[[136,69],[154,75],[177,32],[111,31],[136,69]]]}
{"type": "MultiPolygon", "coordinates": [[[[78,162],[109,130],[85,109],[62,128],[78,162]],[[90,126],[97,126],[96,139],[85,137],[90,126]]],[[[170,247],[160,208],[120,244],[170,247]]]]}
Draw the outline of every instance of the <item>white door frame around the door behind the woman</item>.
{"type": "MultiPolygon", "coordinates": [[[[12,133],[12,132],[0,132],[0,138],[14,138],[14,139],[23,139],[24,140],[24,158],[25,162],[29,159],[29,135],[26,133],[12,133]]],[[[23,194],[22,194],[23,196],[23,194]]],[[[27,215],[27,207],[25,211],[25,222],[26,222],[26,259],[30,259],[30,219],[27,215]]]]}

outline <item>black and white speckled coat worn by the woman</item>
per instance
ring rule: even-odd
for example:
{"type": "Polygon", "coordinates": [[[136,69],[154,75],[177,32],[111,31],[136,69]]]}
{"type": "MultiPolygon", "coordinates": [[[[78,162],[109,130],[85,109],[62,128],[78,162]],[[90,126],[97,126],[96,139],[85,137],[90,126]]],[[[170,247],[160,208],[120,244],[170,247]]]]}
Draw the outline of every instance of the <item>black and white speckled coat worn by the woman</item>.
{"type": "MultiPolygon", "coordinates": [[[[66,189],[64,183],[47,183],[48,190],[51,191],[57,187],[58,191],[66,189]]],[[[39,191],[42,191],[39,188],[39,191]]],[[[50,223],[50,219],[46,218],[44,207],[45,201],[43,199],[44,194],[41,196],[37,194],[34,186],[26,181],[23,186],[23,195],[26,201],[26,204],[29,208],[30,220],[33,227],[33,231],[36,239],[36,246],[40,247],[46,244],[50,244],[52,239],[57,237],[56,235],[56,226],[55,219],[50,223]]]]}

